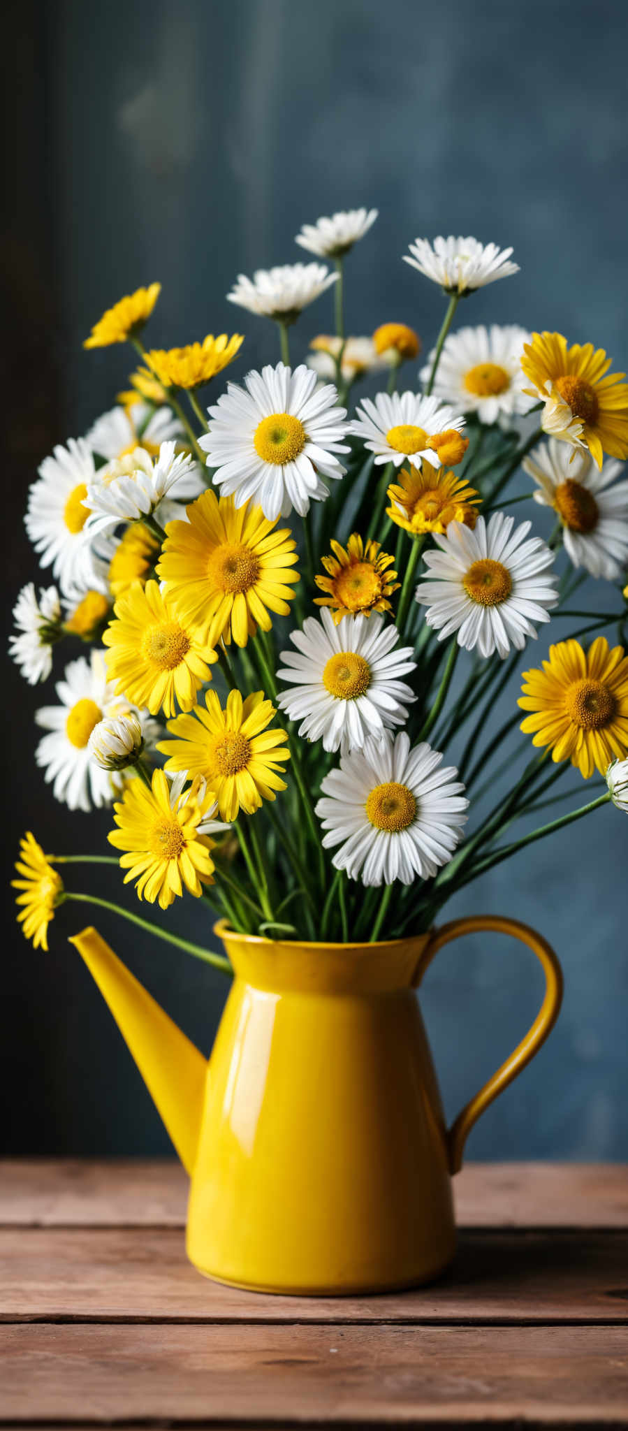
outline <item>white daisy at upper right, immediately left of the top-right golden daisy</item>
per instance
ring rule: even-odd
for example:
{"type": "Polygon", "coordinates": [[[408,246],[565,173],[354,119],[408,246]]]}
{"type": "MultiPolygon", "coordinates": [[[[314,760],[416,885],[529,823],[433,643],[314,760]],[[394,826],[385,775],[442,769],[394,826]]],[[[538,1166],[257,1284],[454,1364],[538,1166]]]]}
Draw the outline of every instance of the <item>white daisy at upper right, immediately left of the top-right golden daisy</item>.
{"type": "MultiPolygon", "coordinates": [[[[442,402],[452,402],[458,412],[476,412],[481,422],[496,422],[528,412],[534,398],[525,396],[526,381],[521,368],[524,343],[531,335],[525,328],[461,328],[449,333],[436,368],[432,392],[442,402]]],[[[435,349],[429,353],[421,381],[428,382],[435,349]]]]}

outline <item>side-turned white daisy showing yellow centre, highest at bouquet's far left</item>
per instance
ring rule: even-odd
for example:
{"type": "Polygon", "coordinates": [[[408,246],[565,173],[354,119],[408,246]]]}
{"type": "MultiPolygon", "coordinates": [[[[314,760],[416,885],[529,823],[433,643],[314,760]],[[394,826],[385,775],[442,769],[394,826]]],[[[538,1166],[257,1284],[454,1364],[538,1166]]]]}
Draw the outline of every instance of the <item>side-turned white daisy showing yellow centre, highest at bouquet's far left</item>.
{"type": "Polygon", "coordinates": [[[69,595],[84,584],[90,567],[83,531],[89,512],[83,502],[96,469],[87,442],[70,438],[67,446],[56,446],[39,474],[29,491],[26,529],[41,567],[53,568],[62,592],[69,595]]]}

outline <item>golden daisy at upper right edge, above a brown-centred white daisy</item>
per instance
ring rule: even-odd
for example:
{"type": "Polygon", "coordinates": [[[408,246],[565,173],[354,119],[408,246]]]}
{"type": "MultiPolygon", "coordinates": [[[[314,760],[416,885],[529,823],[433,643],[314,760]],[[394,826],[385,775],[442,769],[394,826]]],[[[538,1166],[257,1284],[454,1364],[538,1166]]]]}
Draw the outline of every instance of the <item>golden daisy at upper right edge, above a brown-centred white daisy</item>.
{"type": "Polygon", "coordinates": [[[532,333],[521,366],[534,384],[524,392],[545,402],[546,432],[587,446],[599,468],[604,452],[628,456],[628,384],[621,382],[625,373],[608,373],[611,359],[604,348],[568,348],[562,333],[532,333]]]}

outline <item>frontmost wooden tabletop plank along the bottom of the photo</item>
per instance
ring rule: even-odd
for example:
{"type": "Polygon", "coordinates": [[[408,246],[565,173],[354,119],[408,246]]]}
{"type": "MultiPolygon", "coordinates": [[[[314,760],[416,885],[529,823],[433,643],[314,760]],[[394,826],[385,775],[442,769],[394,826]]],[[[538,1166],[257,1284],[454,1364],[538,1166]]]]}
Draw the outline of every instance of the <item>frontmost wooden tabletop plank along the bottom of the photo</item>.
{"type": "Polygon", "coordinates": [[[625,1328],[4,1327],[4,1421],[625,1424],[625,1328]]]}

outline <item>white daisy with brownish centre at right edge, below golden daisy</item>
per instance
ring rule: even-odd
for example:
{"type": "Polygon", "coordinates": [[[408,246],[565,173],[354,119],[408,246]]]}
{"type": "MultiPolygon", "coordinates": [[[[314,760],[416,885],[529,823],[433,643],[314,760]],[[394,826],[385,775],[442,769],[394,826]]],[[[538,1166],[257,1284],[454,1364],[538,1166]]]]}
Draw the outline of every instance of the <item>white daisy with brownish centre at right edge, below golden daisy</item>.
{"type": "Polygon", "coordinates": [[[522,467],[538,482],[535,501],[558,512],[574,567],[615,581],[628,565],[628,481],[611,487],[622,464],[611,458],[598,471],[588,452],[551,438],[522,467]]]}

